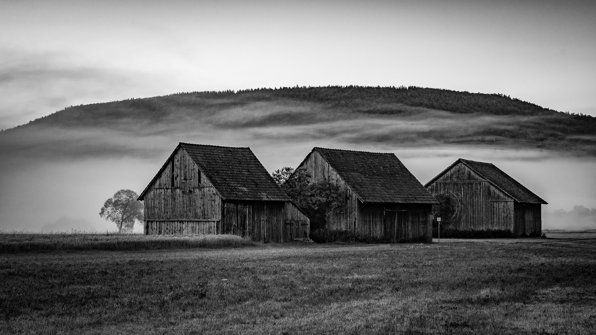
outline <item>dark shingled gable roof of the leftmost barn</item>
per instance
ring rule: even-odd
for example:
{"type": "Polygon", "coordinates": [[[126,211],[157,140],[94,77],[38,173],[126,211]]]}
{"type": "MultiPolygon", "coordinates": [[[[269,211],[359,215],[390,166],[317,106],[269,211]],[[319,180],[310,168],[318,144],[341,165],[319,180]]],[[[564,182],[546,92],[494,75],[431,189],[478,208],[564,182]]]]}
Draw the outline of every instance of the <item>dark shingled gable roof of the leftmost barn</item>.
{"type": "Polygon", "coordinates": [[[250,148],[219,147],[217,145],[180,143],[145,188],[139,199],[144,197],[157,176],[166,168],[179,148],[184,149],[225,199],[234,200],[283,200],[290,197],[275,183],[250,148]]]}

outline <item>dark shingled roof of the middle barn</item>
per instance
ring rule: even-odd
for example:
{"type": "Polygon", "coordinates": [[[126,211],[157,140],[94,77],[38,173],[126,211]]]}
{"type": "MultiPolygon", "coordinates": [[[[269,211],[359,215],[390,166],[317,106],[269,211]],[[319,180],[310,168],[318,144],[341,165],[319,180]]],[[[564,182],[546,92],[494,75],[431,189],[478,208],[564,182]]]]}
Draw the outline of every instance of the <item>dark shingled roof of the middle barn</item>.
{"type": "Polygon", "coordinates": [[[364,202],[439,203],[393,153],[315,147],[364,202]]]}

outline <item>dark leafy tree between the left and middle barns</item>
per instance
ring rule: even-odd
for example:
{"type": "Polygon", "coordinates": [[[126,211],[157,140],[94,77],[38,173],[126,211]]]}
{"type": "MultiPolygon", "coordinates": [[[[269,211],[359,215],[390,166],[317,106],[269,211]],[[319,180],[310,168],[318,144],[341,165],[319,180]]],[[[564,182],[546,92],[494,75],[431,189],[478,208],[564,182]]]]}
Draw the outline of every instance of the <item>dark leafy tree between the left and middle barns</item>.
{"type": "Polygon", "coordinates": [[[273,178],[288,196],[311,218],[311,230],[324,228],[327,215],[339,215],[346,200],[339,185],[327,180],[311,182],[305,168],[285,167],[275,170],[273,178]]]}

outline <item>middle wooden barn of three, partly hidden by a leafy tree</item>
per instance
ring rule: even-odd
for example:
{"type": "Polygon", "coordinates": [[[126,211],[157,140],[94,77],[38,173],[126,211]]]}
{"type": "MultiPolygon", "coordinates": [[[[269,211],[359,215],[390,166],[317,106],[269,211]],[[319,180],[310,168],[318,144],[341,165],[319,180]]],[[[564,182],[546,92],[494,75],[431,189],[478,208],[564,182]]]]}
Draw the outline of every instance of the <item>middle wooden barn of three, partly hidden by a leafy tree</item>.
{"type": "Polygon", "coordinates": [[[393,153],[313,148],[299,167],[311,182],[327,180],[345,193],[346,210],[327,215],[327,229],[389,241],[432,241],[438,201],[393,153]]]}

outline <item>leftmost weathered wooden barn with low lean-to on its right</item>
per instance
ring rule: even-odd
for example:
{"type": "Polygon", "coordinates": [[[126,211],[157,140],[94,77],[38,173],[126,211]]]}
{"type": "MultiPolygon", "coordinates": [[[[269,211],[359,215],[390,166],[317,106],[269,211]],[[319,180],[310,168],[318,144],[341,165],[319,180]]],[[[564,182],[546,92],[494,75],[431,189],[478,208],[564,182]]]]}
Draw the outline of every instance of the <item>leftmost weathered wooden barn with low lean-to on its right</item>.
{"type": "Polygon", "coordinates": [[[180,143],[138,200],[145,234],[309,237],[310,221],[250,148],[180,143]]]}

